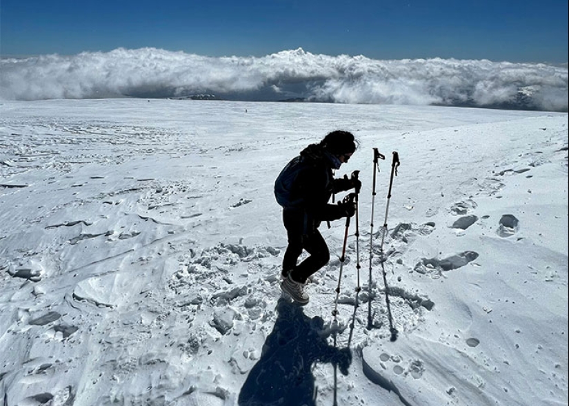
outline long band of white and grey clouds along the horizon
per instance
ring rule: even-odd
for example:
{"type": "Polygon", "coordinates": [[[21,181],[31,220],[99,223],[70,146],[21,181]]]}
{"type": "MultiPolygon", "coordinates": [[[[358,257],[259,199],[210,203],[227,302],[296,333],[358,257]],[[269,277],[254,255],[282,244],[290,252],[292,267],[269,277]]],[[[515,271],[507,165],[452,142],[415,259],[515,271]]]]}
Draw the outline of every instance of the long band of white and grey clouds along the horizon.
{"type": "Polygon", "coordinates": [[[568,111],[568,69],[456,59],[378,61],[301,48],[212,58],[155,48],[0,61],[0,98],[172,97],[568,111]]]}

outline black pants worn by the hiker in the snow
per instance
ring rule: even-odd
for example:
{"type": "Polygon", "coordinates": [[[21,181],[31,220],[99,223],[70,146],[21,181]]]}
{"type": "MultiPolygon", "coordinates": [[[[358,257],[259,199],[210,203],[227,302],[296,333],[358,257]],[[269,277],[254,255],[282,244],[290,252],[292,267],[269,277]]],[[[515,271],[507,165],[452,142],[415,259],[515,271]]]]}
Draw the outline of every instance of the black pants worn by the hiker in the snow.
{"type": "Polygon", "coordinates": [[[283,224],[288,236],[288,246],[283,259],[283,269],[292,270],[292,279],[306,283],[306,279],[330,261],[330,250],[318,228],[306,224],[303,211],[283,211],[283,224]],[[306,250],[310,254],[297,265],[297,261],[306,250]]]}

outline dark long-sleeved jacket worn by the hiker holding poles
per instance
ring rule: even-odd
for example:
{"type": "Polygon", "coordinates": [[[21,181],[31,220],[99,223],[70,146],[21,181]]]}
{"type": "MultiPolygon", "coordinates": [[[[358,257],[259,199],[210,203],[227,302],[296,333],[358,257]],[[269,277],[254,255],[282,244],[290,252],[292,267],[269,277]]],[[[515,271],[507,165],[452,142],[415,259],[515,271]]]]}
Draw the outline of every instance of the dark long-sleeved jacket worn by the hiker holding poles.
{"type": "Polygon", "coordinates": [[[301,201],[301,204],[284,210],[299,214],[299,221],[304,222],[306,233],[318,228],[322,221],[346,216],[346,210],[341,205],[328,202],[332,194],[351,189],[352,181],[334,178],[332,157],[322,147],[309,145],[290,164],[300,164],[299,173],[290,187],[290,200],[301,201]]]}

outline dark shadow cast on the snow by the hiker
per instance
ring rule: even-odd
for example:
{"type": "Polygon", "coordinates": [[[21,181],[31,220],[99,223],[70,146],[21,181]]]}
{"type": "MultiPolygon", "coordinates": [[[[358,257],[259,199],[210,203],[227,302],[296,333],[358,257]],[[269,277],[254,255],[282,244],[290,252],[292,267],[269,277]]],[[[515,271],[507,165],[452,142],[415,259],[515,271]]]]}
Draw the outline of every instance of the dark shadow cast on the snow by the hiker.
{"type": "Polygon", "coordinates": [[[328,344],[321,317],[310,319],[301,307],[283,298],[277,303],[277,313],[261,358],[241,387],[239,406],[315,406],[313,363],[332,363],[348,374],[350,349],[338,350],[328,344]]]}

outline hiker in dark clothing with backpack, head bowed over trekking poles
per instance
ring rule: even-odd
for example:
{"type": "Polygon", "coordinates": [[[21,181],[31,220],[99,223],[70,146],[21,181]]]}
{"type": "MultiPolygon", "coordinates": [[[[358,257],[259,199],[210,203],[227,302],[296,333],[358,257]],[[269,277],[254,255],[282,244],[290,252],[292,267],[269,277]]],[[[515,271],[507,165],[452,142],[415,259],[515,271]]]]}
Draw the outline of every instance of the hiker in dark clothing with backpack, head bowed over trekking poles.
{"type": "Polygon", "coordinates": [[[356,149],[352,133],[332,131],[288,162],[274,183],[274,195],[283,206],[283,224],[288,236],[281,289],[299,304],[308,303],[304,290],[308,277],[330,260],[328,246],[318,231],[321,222],[355,214],[353,202],[330,204],[328,200],[332,194],[361,187],[357,178],[333,176],[333,171],[348,162],[356,149]],[[303,250],[310,256],[297,264],[303,250]]]}

